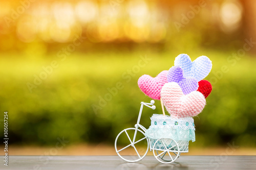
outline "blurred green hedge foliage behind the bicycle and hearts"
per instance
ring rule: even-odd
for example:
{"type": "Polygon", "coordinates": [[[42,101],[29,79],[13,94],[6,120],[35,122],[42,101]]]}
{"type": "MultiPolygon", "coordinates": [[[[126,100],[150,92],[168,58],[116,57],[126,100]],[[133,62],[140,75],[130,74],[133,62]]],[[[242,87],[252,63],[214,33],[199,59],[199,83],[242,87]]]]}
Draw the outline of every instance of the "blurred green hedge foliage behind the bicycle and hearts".
{"type": "MultiPolygon", "coordinates": [[[[203,112],[194,118],[197,141],[193,144],[226,145],[234,141],[241,147],[255,147],[255,58],[246,55],[232,66],[227,62],[232,52],[184,50],[74,53],[65,61],[54,54],[29,59],[2,54],[0,108],[2,113],[9,112],[10,142],[53,145],[57,137],[63,136],[69,144],[114,144],[121,130],[136,124],[140,102],[151,100],[140,91],[138,78],[144,74],[155,77],[169,69],[181,53],[187,53],[192,60],[206,55],[213,63],[206,78],[214,81],[213,90],[203,112]],[[136,65],[145,56],[151,60],[138,69],[136,65]],[[49,66],[53,60],[58,67],[30,92],[27,83],[33,83],[34,75],[39,76],[44,71],[42,66],[49,66]],[[223,65],[228,68],[225,73],[221,72],[223,65]],[[117,82],[123,88],[111,95],[105,106],[100,106],[100,98],[105,98],[110,93],[108,88],[115,87],[117,82]],[[96,105],[101,107],[97,112],[92,107],[96,105]]],[[[156,107],[143,110],[141,124],[146,128],[150,126],[150,116],[162,112],[160,101],[156,101],[156,107]]],[[[0,119],[2,124],[3,117],[0,119]]],[[[3,138],[3,128],[0,137],[3,138]]]]}

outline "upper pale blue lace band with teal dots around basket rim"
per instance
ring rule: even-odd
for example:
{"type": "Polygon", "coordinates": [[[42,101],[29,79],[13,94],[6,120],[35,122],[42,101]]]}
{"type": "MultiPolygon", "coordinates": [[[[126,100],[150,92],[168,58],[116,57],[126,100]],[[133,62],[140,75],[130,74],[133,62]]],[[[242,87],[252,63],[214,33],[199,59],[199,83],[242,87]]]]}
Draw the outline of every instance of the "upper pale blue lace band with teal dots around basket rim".
{"type": "Polygon", "coordinates": [[[173,128],[173,129],[192,129],[195,130],[194,119],[192,117],[186,118],[172,118],[161,114],[153,114],[151,117],[150,128],[173,128]]]}

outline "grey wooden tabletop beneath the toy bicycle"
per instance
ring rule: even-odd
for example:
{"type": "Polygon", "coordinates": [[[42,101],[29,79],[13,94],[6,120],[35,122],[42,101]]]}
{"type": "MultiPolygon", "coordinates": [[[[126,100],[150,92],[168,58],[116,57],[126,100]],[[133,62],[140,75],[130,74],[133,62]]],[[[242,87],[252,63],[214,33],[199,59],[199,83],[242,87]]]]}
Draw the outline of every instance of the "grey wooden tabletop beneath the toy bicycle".
{"type": "Polygon", "coordinates": [[[0,169],[256,169],[256,156],[182,156],[162,164],[154,156],[127,163],[118,156],[9,156],[0,169]]]}

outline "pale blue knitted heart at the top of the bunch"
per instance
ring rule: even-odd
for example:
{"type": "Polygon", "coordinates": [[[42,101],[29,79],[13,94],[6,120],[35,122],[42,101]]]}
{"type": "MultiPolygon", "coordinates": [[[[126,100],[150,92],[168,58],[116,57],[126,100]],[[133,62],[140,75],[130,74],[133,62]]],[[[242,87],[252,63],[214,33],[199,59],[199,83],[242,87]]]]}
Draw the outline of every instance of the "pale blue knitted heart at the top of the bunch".
{"type": "Polygon", "coordinates": [[[212,64],[208,57],[201,56],[195,61],[191,61],[188,55],[180,54],[175,58],[175,66],[179,66],[184,71],[184,77],[195,78],[198,82],[203,80],[210,72],[212,64]]]}

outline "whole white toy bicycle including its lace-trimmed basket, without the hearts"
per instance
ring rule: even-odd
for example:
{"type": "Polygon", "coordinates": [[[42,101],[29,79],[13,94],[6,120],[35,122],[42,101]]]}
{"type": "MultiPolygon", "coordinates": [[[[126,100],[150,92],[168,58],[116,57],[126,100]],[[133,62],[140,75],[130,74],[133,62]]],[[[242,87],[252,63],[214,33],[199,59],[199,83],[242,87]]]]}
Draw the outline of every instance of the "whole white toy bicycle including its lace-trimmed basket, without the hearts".
{"type": "Polygon", "coordinates": [[[179,158],[181,153],[188,152],[189,140],[194,140],[195,137],[193,118],[175,119],[162,114],[154,114],[151,117],[149,129],[140,125],[143,106],[154,110],[156,109],[154,103],[155,101],[153,100],[151,103],[141,102],[135,128],[124,129],[117,135],[115,150],[121,159],[127,162],[140,161],[146,156],[148,149],[150,149],[159,162],[172,163],[179,158]],[[118,147],[117,143],[124,143],[125,141],[127,143],[125,147],[118,147]],[[144,144],[144,148],[141,148],[142,144],[144,144]],[[133,154],[131,153],[132,151],[134,151],[133,154]],[[130,156],[126,156],[127,154],[130,154],[130,156]]]}

